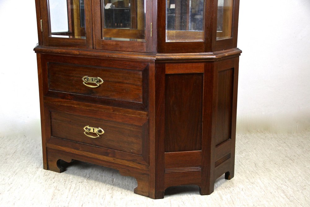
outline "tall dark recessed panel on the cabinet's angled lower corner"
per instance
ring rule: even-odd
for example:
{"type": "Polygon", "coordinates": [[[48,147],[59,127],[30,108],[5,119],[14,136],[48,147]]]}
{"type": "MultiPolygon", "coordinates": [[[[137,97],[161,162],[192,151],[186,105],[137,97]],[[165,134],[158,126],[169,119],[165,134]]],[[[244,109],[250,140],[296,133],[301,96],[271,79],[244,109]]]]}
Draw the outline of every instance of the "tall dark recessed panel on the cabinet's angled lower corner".
{"type": "Polygon", "coordinates": [[[165,152],[201,150],[203,74],[167,74],[165,152]]]}

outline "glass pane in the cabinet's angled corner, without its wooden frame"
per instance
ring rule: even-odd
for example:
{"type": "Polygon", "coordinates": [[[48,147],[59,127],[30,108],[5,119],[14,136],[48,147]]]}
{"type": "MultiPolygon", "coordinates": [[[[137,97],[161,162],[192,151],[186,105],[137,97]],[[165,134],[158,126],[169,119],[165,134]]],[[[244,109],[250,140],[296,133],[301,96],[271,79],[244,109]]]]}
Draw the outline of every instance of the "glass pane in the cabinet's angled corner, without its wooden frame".
{"type": "Polygon", "coordinates": [[[166,41],[202,41],[204,0],[166,0],[166,41]]]}

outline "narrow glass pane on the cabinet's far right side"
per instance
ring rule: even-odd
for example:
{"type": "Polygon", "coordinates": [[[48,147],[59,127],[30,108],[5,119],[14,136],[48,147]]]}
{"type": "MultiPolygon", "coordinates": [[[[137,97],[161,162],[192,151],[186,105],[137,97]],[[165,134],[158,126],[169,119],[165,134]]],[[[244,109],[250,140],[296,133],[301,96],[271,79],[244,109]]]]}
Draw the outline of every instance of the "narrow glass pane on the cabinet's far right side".
{"type": "Polygon", "coordinates": [[[218,0],[216,39],[232,37],[232,0],[218,0]]]}

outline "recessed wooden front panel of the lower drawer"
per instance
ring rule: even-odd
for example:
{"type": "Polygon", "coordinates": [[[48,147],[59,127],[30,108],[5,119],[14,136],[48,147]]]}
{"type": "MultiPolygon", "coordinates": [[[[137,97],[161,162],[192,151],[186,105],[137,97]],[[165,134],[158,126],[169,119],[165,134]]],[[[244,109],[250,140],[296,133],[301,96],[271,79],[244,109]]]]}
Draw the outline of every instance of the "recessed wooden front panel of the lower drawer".
{"type": "MultiPolygon", "coordinates": [[[[143,139],[147,138],[145,137],[148,132],[147,127],[147,125],[138,126],[112,120],[91,118],[89,116],[51,111],[52,137],[105,147],[135,155],[142,155],[143,139]],[[98,138],[87,137],[83,129],[87,125],[95,128],[100,127],[104,130],[104,133],[98,138]]],[[[90,135],[96,136],[95,133],[90,133],[90,135]]]]}

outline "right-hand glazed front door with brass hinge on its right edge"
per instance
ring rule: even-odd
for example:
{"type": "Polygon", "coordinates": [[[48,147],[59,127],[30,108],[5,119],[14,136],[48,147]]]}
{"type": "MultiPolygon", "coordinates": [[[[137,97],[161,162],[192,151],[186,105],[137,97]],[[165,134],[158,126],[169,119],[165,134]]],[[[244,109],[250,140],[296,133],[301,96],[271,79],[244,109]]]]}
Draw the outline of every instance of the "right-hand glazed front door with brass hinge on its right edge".
{"type": "Polygon", "coordinates": [[[95,49],[148,52],[151,1],[93,0],[95,49]]]}

